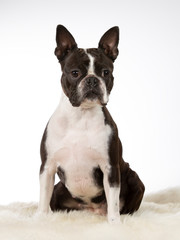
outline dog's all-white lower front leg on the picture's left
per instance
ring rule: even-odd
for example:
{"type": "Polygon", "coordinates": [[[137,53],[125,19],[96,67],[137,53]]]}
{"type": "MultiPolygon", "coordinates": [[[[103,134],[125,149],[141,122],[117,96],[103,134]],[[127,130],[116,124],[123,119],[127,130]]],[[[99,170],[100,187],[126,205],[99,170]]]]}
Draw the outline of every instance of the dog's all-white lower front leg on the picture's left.
{"type": "Polygon", "coordinates": [[[40,200],[38,211],[40,213],[49,212],[49,204],[54,188],[55,171],[44,168],[44,171],[40,174],[40,200]]]}

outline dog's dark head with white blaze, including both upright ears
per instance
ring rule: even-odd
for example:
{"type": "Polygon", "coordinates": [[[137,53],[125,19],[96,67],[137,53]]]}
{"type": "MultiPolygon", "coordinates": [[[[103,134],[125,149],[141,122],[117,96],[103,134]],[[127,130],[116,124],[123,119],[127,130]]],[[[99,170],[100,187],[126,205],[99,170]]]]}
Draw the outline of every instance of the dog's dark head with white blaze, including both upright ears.
{"type": "Polygon", "coordinates": [[[113,87],[113,62],[118,55],[119,28],[101,38],[98,48],[82,49],[70,32],[57,26],[55,55],[62,68],[61,84],[74,107],[106,105],[113,87]]]}

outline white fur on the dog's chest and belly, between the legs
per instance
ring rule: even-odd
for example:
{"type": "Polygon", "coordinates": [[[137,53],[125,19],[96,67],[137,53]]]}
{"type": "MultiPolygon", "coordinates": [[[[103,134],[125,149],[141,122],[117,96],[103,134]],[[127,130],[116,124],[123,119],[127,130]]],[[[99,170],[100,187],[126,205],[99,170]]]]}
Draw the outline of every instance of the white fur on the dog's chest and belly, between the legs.
{"type": "Polygon", "coordinates": [[[63,94],[47,129],[46,167],[59,166],[66,175],[66,187],[74,196],[91,197],[99,188],[92,179],[93,168],[108,168],[108,140],[111,128],[104,123],[101,106],[73,107],[63,94]]]}

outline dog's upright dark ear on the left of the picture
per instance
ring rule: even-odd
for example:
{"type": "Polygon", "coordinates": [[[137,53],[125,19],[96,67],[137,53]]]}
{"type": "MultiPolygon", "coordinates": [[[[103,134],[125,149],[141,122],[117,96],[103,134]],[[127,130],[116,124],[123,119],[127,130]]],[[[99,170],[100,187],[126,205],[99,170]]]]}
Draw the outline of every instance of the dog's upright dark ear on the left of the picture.
{"type": "Polygon", "coordinates": [[[71,35],[71,33],[63,26],[58,25],[56,29],[56,43],[55,55],[62,61],[64,57],[73,49],[77,47],[77,44],[71,35]]]}

